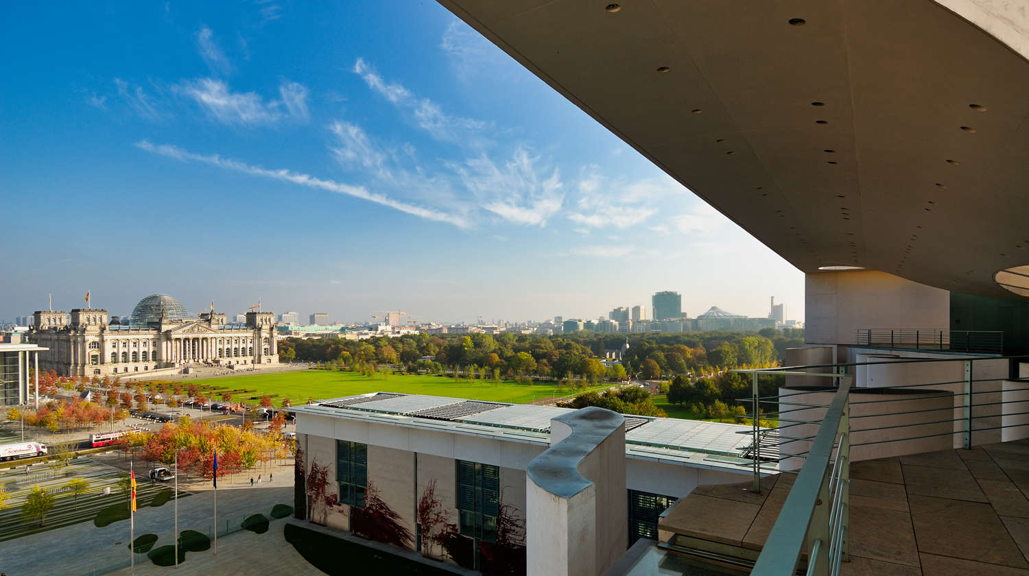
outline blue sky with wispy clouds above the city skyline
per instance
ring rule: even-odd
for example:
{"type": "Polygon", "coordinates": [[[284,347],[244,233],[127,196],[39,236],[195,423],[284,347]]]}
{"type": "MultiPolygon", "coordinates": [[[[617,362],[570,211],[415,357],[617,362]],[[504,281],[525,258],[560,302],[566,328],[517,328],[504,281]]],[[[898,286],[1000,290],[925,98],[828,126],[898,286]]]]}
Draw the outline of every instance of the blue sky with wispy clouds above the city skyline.
{"type": "Polygon", "coordinates": [[[435,2],[11,3],[0,318],[595,318],[804,278],[435,2]],[[319,3],[326,4],[326,3],[319,3]]]}

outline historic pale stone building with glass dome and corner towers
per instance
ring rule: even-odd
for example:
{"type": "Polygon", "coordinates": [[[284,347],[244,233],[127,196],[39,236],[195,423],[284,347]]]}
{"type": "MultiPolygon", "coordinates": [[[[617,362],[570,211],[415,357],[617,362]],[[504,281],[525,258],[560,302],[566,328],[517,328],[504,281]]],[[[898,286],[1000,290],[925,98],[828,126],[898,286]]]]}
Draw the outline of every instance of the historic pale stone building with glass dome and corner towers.
{"type": "Polygon", "coordinates": [[[28,338],[47,349],[39,355],[39,368],[61,375],[279,362],[274,314],[247,313],[245,324],[229,324],[215,312],[187,316],[178,300],[165,294],[140,300],[128,324],[110,324],[103,309],[37,311],[28,338]],[[69,321],[62,324],[66,317],[69,321]]]}

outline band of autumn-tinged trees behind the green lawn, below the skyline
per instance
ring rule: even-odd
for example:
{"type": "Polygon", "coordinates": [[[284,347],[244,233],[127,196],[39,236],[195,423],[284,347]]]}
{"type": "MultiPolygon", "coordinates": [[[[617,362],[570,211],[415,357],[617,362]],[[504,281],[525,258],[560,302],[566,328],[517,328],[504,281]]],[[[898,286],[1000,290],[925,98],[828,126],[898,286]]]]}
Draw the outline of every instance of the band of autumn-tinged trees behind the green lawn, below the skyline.
{"type": "Polygon", "coordinates": [[[772,366],[785,350],[803,344],[803,330],[712,331],[662,334],[567,335],[404,334],[362,340],[285,338],[283,360],[397,366],[407,371],[478,374],[481,377],[538,377],[589,383],[714,374],[740,366],[772,366]],[[627,343],[629,348],[624,350],[627,343]],[[624,350],[624,351],[623,351],[624,350]],[[620,363],[605,362],[608,351],[620,363]]]}

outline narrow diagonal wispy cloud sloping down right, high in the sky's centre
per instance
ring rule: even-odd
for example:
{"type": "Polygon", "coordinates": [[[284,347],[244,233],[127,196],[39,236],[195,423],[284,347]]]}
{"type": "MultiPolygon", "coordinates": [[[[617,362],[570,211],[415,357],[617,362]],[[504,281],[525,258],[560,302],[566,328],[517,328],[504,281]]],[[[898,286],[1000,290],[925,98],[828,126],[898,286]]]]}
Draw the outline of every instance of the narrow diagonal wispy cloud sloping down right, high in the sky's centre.
{"type": "Polygon", "coordinates": [[[411,114],[415,123],[436,140],[476,145],[486,143],[483,132],[490,125],[489,122],[447,114],[431,100],[417,97],[398,82],[383,79],[363,59],[357,59],[354,73],[363,78],[372,91],[411,114]]]}

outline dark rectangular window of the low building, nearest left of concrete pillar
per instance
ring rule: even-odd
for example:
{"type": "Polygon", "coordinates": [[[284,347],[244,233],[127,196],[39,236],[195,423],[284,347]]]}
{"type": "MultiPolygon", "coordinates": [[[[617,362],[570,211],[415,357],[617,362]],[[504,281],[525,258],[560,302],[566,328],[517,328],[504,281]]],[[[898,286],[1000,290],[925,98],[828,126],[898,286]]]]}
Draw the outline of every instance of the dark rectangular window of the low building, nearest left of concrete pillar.
{"type": "Polygon", "coordinates": [[[500,468],[458,460],[457,508],[461,534],[495,542],[500,515],[500,468]]]}

